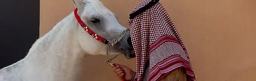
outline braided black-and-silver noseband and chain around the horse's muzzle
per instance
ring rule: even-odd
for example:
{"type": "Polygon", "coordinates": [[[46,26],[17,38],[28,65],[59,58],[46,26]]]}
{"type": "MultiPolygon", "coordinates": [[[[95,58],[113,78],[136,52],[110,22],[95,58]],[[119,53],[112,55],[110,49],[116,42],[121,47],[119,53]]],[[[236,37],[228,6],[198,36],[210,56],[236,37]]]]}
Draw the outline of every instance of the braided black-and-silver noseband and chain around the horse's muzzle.
{"type": "Polygon", "coordinates": [[[107,44],[106,47],[106,61],[104,63],[111,64],[111,61],[114,60],[118,55],[114,56],[113,58],[109,59],[109,46],[114,46],[116,43],[118,43],[128,32],[130,32],[129,29],[126,29],[119,33],[115,38],[109,41],[109,44],[107,44]]]}

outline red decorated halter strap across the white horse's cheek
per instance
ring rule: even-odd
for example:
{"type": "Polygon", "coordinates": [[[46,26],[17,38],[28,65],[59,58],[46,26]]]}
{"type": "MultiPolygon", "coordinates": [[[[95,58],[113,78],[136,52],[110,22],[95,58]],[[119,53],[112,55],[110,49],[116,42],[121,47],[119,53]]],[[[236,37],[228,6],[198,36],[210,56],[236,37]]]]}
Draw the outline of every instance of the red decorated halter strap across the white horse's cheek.
{"type": "Polygon", "coordinates": [[[76,17],[76,20],[78,21],[78,23],[80,24],[81,27],[83,27],[83,29],[88,32],[90,35],[92,35],[93,38],[95,38],[96,40],[104,43],[104,44],[109,44],[109,41],[106,40],[105,38],[97,35],[95,32],[93,32],[90,28],[88,28],[88,26],[81,20],[81,18],[79,17],[79,15],[77,14],[78,8],[76,8],[74,10],[74,15],[76,17]]]}

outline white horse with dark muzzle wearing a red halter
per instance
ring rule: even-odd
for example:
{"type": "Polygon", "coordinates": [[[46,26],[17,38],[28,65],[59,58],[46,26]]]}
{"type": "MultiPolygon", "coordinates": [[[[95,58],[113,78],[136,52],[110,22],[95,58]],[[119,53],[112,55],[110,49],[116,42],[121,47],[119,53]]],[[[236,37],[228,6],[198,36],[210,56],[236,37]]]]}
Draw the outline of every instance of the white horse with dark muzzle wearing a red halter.
{"type": "MultiPolygon", "coordinates": [[[[73,3],[81,20],[107,40],[126,29],[118,23],[114,13],[98,0],[73,0],[73,3]]],[[[109,53],[124,53],[126,58],[134,58],[133,51],[128,33],[109,53]]],[[[86,55],[106,55],[106,45],[89,35],[72,12],[36,40],[24,59],[2,68],[0,81],[80,81],[84,64],[82,59],[86,55]]]]}

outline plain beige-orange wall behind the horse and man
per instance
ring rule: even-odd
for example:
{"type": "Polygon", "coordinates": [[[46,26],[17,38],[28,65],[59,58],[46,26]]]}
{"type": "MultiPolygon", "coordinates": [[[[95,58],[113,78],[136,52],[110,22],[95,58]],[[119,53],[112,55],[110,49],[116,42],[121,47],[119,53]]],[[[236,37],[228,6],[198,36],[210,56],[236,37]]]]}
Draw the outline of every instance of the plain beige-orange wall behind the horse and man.
{"type": "MultiPolygon", "coordinates": [[[[101,0],[126,20],[140,0],[101,0]]],[[[247,81],[256,75],[256,0],[160,0],[179,30],[198,81],[247,81]]],[[[41,0],[40,36],[73,11],[71,0],[41,0]]],[[[117,81],[104,56],[86,57],[84,79],[117,81]]],[[[135,60],[115,62],[135,69],[135,60]]]]}

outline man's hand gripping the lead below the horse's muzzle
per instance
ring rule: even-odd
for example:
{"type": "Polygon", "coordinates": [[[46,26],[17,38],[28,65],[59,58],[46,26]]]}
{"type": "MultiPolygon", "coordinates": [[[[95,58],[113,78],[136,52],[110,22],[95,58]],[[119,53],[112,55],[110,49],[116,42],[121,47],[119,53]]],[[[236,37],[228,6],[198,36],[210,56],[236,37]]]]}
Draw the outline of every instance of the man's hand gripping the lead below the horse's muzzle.
{"type": "Polygon", "coordinates": [[[133,79],[133,76],[135,75],[135,72],[132,71],[130,68],[116,63],[114,63],[114,72],[120,80],[122,80],[122,78],[125,78],[126,81],[131,81],[133,79]]]}

